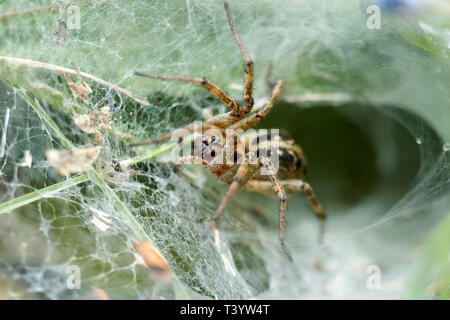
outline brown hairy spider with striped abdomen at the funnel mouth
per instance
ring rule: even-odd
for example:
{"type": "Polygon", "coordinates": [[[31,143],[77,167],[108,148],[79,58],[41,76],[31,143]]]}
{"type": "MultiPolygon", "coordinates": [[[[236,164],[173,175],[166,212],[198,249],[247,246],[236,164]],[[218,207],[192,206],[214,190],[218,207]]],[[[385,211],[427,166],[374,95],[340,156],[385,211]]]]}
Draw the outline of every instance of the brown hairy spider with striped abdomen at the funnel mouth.
{"type": "MultiPolygon", "coordinates": [[[[292,256],[285,243],[285,219],[288,191],[301,191],[309,200],[310,205],[316,216],[320,219],[321,236],[324,232],[324,220],[326,218],[322,205],[317,201],[311,186],[305,181],[307,162],[305,155],[294,140],[285,136],[262,136],[259,133],[248,131],[259,124],[272,109],[275,100],[280,95],[284,86],[284,80],[276,80],[272,82],[272,93],[268,102],[257,112],[251,114],[253,109],[253,79],[254,66],[253,61],[247,53],[236,29],[233,26],[228,4],[224,3],[225,13],[231,32],[239,46],[245,61],[245,91],[244,102],[239,102],[230,98],[216,84],[210,82],[206,78],[187,78],[172,77],[147,74],[143,72],[135,72],[138,76],[143,76],[158,80],[188,82],[201,85],[211,94],[216,96],[221,102],[227,105],[231,111],[210,117],[206,123],[202,125],[202,132],[216,129],[219,134],[203,134],[200,137],[201,155],[181,157],[175,164],[174,170],[177,171],[180,166],[186,163],[201,164],[217,176],[217,178],[230,185],[228,192],[220,203],[211,223],[206,229],[205,235],[215,225],[217,219],[222,215],[227,203],[232,195],[239,188],[244,188],[256,192],[267,192],[274,189],[280,201],[280,243],[281,247],[290,261],[292,256]],[[220,133],[231,130],[233,132],[241,132],[241,134],[233,134],[232,138],[224,139],[220,133]],[[221,138],[222,136],[222,138],[221,138]],[[262,142],[266,143],[266,149],[263,150],[262,142]],[[279,170],[278,174],[270,160],[270,152],[266,152],[267,156],[262,156],[262,151],[267,151],[267,144],[278,143],[279,170]],[[224,161],[227,159],[233,161],[224,161]],[[261,174],[261,169],[265,169],[266,174],[261,174]],[[268,179],[268,177],[270,179],[268,179]],[[281,180],[280,180],[281,179],[281,180]]],[[[186,134],[195,131],[194,125],[191,124],[184,128],[186,134]]],[[[179,130],[179,129],[178,129],[179,130]]],[[[174,131],[175,132],[175,131],[174,131]]],[[[173,133],[160,136],[156,139],[130,144],[131,147],[152,144],[172,138],[173,133]]],[[[180,142],[183,136],[180,137],[180,142]]],[[[270,151],[270,150],[268,150],[270,151]]]]}

